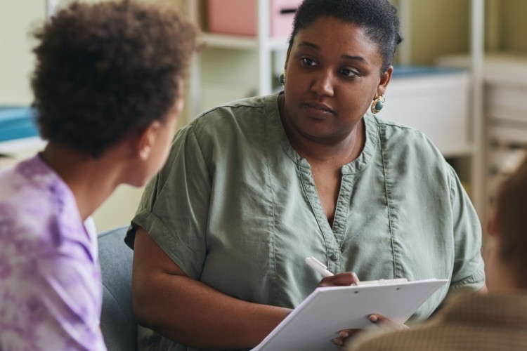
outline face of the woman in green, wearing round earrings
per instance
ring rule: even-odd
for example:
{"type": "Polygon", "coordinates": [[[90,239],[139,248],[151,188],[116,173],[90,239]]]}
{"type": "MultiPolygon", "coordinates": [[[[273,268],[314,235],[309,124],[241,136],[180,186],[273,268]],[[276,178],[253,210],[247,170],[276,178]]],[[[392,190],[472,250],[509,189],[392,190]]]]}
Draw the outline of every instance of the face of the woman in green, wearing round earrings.
{"type": "Polygon", "coordinates": [[[344,140],[384,93],[392,68],[360,27],[320,17],[300,30],[285,64],[285,123],[304,138],[344,140]]]}

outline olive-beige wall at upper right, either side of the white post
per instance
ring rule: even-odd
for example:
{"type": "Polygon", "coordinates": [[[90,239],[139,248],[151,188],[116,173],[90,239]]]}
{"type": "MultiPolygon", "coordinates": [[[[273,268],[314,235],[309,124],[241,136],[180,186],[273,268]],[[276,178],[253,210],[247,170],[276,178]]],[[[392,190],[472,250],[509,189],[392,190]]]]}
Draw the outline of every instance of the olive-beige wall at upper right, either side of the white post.
{"type": "MultiPolygon", "coordinates": [[[[470,3],[469,0],[411,1],[412,64],[433,65],[440,55],[469,52],[470,3]]],[[[486,0],[486,49],[527,53],[526,13],[526,0],[486,0]]]]}

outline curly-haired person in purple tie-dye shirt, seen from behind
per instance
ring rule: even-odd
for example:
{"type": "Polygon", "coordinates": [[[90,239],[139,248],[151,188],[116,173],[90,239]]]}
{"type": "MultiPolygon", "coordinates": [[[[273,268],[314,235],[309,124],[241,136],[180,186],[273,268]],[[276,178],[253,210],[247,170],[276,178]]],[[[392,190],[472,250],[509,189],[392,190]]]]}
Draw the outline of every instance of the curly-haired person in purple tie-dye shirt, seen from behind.
{"type": "Polygon", "coordinates": [[[35,32],[43,152],[0,172],[0,349],[105,350],[84,221],[167,159],[195,28],[174,11],[73,3],[35,32]]]}

